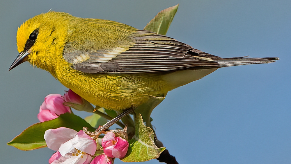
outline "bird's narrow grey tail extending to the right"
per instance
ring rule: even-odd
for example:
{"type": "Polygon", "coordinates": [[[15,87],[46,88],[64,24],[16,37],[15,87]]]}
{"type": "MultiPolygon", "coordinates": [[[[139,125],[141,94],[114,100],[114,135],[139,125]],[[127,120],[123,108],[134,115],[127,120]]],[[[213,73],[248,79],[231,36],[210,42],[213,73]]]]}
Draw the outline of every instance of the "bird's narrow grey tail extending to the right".
{"type": "Polygon", "coordinates": [[[252,58],[248,56],[244,57],[232,57],[232,58],[221,58],[215,59],[220,67],[228,67],[228,66],[239,66],[246,64],[263,64],[263,63],[272,63],[276,60],[279,60],[278,57],[262,57],[262,58],[252,58]]]}

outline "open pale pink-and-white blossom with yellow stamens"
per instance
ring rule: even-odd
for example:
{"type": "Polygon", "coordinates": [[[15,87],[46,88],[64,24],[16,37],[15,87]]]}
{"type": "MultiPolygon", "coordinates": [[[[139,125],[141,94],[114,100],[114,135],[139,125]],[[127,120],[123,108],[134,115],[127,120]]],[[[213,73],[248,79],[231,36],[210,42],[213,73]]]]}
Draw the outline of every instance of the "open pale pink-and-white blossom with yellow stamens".
{"type": "Polygon", "coordinates": [[[97,149],[96,141],[82,130],[48,129],[44,138],[47,147],[58,151],[49,159],[50,164],[88,164],[97,149]]]}

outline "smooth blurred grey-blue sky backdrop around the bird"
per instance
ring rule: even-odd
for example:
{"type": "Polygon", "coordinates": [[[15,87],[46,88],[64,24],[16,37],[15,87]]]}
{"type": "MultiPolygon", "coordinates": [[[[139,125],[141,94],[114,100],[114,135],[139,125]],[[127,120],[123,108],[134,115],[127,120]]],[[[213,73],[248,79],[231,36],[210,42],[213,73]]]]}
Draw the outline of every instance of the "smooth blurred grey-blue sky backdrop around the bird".
{"type": "MultiPolygon", "coordinates": [[[[221,68],[170,91],[152,113],[159,140],[180,164],[291,163],[290,0],[1,0],[0,163],[48,163],[53,154],[48,148],[24,152],[6,143],[38,122],[46,95],[67,90],[27,62],[8,72],[18,55],[18,26],[52,9],[143,29],[160,10],[177,3],[169,37],[220,57],[281,60],[221,68]]],[[[145,162],[151,163],[159,162],[145,162]]]]}

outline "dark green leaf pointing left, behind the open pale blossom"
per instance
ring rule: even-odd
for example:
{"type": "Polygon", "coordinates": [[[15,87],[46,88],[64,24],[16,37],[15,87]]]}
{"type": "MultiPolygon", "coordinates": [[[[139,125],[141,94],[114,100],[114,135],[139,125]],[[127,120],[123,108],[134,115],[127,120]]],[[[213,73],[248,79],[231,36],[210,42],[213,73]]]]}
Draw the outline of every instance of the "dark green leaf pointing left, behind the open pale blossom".
{"type": "Polygon", "coordinates": [[[73,113],[65,113],[54,120],[31,125],[7,144],[20,150],[34,150],[46,147],[45,139],[43,138],[45,131],[58,127],[68,127],[76,131],[80,131],[83,127],[88,127],[88,130],[95,131],[95,129],[81,117],[73,113]]]}

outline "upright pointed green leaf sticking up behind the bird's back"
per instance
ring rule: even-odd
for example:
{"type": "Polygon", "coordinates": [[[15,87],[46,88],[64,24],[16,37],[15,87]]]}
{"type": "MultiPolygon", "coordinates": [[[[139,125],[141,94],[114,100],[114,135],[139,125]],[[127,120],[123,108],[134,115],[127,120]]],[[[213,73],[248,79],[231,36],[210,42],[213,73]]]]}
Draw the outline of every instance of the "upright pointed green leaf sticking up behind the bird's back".
{"type": "Polygon", "coordinates": [[[161,35],[166,35],[170,24],[178,10],[179,4],[173,7],[166,8],[159,12],[143,30],[152,31],[161,35]]]}

